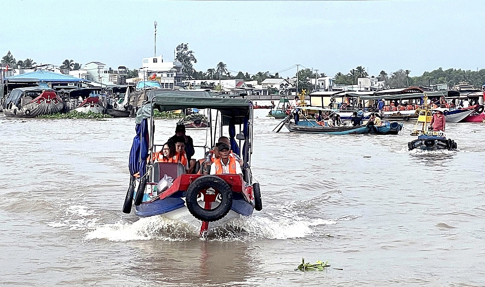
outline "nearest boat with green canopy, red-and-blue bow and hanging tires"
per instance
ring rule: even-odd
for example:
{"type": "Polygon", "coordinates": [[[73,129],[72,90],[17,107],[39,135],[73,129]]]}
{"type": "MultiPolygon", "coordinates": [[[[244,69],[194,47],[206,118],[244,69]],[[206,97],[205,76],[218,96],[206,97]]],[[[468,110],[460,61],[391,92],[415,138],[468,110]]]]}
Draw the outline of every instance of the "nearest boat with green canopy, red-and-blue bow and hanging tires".
{"type": "Polygon", "coordinates": [[[250,216],[254,209],[262,209],[259,184],[253,182],[250,168],[253,112],[248,99],[213,97],[208,93],[192,96],[190,93],[163,93],[160,90],[146,91],[146,95],[149,102],[140,108],[136,116],[137,135],[129,156],[130,183],[123,212],[130,213],[133,203],[135,214],[140,217],[190,218],[200,224],[200,234],[203,235],[208,231],[209,223],[216,226],[241,215],[250,216]],[[243,175],[186,174],[180,163],[154,162],[149,157],[157,147],[154,144],[153,111],[190,108],[210,109],[208,118],[214,123],[206,133],[210,146],[201,149],[209,152],[215,145],[216,137],[212,135],[226,129],[232,151],[239,154],[244,162],[243,175]],[[240,133],[236,135],[237,127],[240,133]],[[137,174],[141,177],[136,178],[137,174]]]}

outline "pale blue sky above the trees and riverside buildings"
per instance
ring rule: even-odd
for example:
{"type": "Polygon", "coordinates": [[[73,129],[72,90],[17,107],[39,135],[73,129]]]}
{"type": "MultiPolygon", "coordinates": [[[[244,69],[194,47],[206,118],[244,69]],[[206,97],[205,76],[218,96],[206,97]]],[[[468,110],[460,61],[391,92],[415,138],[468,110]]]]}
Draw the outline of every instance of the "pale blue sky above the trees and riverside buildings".
{"type": "MultiPolygon", "coordinates": [[[[238,71],[294,64],[333,76],[362,65],[411,70],[485,67],[485,1],[8,0],[0,6],[0,54],[42,64],[65,59],[139,68],[154,55],[173,61],[189,43],[197,71],[217,63],[238,71]]],[[[0,57],[1,57],[0,56],[0,57]]]]}

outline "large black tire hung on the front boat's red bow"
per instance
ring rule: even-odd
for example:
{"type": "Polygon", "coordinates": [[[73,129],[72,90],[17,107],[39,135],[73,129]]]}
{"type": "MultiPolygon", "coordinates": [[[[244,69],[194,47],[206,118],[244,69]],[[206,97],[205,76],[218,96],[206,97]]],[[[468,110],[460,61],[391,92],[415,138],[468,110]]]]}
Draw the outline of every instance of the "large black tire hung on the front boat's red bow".
{"type": "Polygon", "coordinates": [[[224,218],[232,207],[232,191],[224,179],[215,175],[203,175],[189,185],[185,193],[185,203],[189,212],[198,220],[214,222],[224,218]],[[197,202],[197,195],[202,190],[213,188],[219,191],[221,203],[211,210],[202,208],[197,202]]]}

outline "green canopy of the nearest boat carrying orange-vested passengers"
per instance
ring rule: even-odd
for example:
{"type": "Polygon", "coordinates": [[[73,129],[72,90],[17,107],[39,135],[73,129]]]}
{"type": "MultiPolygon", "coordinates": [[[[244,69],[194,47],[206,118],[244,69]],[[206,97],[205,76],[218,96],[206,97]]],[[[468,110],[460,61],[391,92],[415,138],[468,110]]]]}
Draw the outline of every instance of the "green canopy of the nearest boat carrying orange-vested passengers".
{"type": "Polygon", "coordinates": [[[249,115],[251,102],[246,98],[227,98],[220,96],[210,96],[203,92],[198,96],[190,93],[182,94],[166,93],[157,90],[146,91],[148,103],[136,113],[136,123],[139,124],[143,119],[151,116],[151,105],[160,112],[176,111],[183,109],[196,108],[199,110],[213,109],[220,111],[228,117],[245,117],[249,115]]]}

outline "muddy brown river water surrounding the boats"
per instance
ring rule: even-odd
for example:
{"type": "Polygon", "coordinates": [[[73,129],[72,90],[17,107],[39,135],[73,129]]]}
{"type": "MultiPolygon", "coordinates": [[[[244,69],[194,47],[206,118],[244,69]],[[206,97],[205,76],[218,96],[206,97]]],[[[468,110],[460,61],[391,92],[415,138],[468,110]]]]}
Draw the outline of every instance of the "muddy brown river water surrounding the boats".
{"type": "Polygon", "coordinates": [[[457,151],[408,152],[406,130],[276,134],[266,112],[263,210],[208,239],[121,212],[133,119],[0,117],[0,286],[485,286],[484,124],[447,124],[457,151]],[[294,271],[302,257],[331,268],[294,271]]]}

